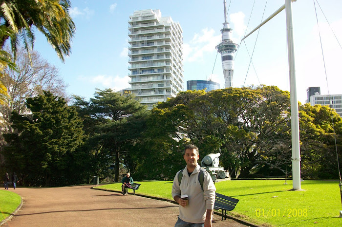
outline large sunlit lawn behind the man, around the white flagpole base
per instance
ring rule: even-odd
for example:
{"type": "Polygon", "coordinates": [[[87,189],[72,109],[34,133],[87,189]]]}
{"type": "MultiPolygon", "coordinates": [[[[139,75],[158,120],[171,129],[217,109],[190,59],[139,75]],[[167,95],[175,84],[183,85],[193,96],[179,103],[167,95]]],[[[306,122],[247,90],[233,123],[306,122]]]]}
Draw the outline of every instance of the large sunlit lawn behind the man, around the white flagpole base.
{"type": "MultiPolygon", "coordinates": [[[[172,181],[142,181],[136,193],[172,199],[172,181]]],[[[215,183],[216,192],[239,199],[233,216],[263,226],[342,226],[338,181],[301,182],[305,191],[289,191],[288,180],[233,180],[215,183]]],[[[98,188],[121,191],[121,183],[98,188]]]]}

